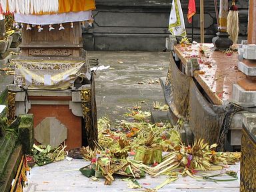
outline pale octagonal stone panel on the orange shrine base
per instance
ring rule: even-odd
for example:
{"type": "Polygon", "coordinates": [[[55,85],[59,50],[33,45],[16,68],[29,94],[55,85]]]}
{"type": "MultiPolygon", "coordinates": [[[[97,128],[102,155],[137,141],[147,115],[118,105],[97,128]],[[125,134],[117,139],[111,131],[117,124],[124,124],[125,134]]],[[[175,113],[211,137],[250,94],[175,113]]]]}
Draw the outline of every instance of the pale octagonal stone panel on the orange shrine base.
{"type": "Polygon", "coordinates": [[[58,147],[67,139],[67,127],[55,117],[47,117],[35,127],[35,139],[41,144],[58,147]]]}

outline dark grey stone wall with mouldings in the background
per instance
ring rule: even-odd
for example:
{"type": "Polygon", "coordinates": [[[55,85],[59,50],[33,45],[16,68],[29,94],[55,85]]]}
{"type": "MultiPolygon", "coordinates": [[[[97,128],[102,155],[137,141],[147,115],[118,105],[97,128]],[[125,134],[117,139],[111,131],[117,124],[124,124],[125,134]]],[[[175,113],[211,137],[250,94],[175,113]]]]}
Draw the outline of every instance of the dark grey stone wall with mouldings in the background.
{"type": "MultiPolygon", "coordinates": [[[[172,0],[96,0],[93,27],[83,30],[84,48],[89,51],[162,51],[169,36],[168,23],[172,0]]],[[[196,0],[194,40],[200,41],[200,0],[196,0]]],[[[192,25],[187,22],[187,0],[181,0],[188,37],[192,25]]],[[[231,2],[230,2],[231,4],[231,2]]],[[[247,36],[247,0],[237,2],[240,36],[247,36]]],[[[205,42],[217,33],[213,0],[205,0],[205,42]]]]}

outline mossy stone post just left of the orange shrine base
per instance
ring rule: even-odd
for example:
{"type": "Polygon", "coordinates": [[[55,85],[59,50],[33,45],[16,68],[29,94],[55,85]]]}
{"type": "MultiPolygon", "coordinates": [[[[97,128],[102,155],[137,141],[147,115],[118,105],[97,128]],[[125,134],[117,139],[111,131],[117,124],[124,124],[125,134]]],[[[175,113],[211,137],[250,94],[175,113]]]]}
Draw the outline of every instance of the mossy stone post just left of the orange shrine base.
{"type": "Polygon", "coordinates": [[[34,144],[33,115],[20,115],[19,138],[23,145],[23,153],[31,153],[34,144]]]}

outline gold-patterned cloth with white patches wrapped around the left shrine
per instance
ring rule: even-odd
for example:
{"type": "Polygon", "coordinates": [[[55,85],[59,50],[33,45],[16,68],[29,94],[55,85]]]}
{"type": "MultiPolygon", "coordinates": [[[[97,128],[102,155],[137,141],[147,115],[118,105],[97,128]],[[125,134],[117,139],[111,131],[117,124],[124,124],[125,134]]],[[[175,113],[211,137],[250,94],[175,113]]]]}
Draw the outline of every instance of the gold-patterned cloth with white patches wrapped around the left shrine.
{"type": "Polygon", "coordinates": [[[78,77],[85,78],[85,61],[13,60],[15,84],[29,89],[68,89],[78,77]]]}

